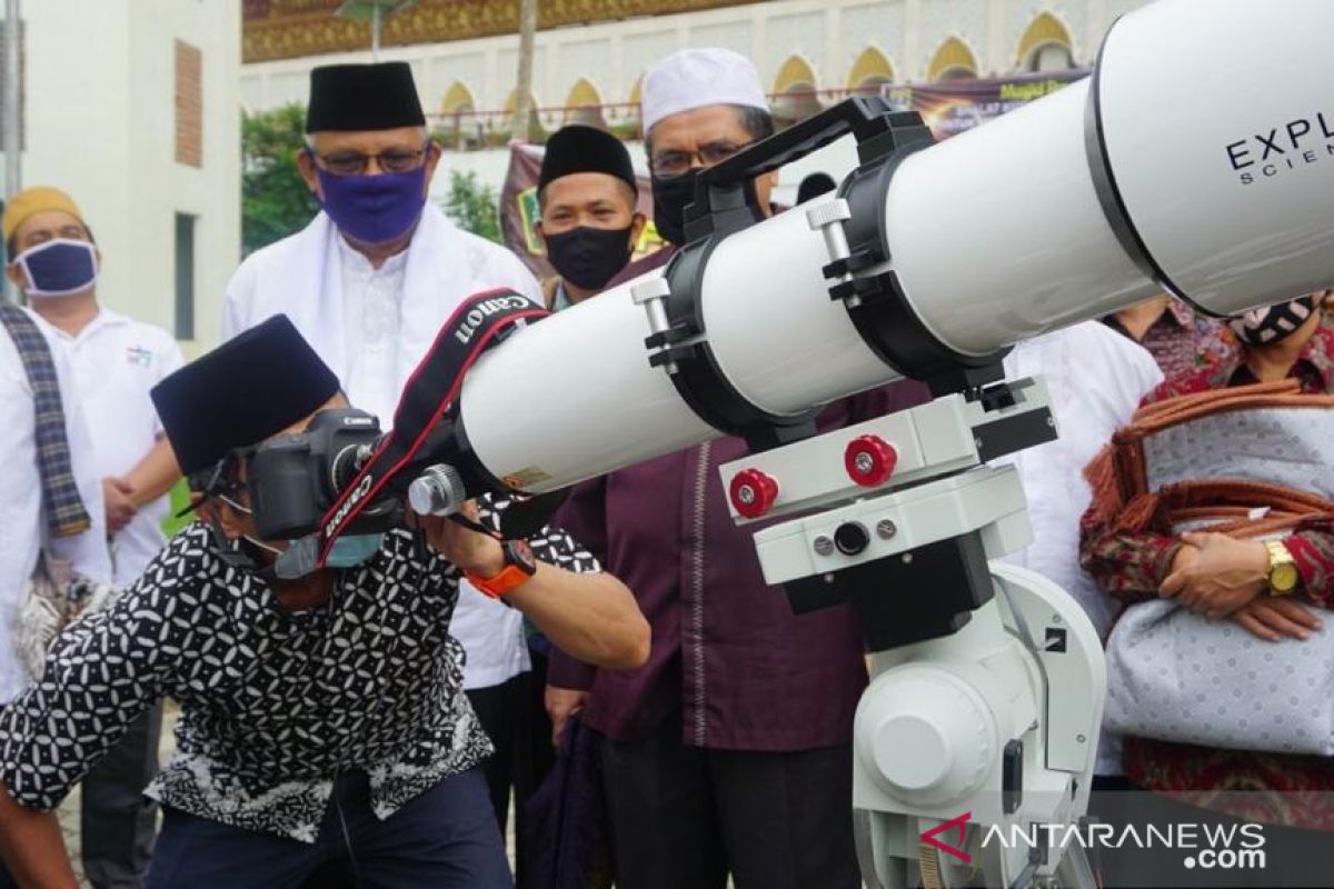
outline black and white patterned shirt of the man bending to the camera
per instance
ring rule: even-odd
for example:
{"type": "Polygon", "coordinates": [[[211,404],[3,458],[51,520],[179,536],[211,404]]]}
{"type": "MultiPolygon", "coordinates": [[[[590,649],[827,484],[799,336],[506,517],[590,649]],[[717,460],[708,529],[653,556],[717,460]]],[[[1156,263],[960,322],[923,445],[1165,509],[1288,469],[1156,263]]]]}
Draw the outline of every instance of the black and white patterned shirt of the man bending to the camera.
{"type": "MultiPolygon", "coordinates": [[[[598,570],[567,534],[534,554],[598,570]]],[[[164,696],[181,706],[176,756],[147,793],[192,814],[313,842],[339,772],[371,780],[388,817],[491,746],[463,694],[448,634],[459,572],[408,530],[340,572],[319,608],[285,612],[196,524],[109,609],[67,628],[43,678],[0,713],[0,777],[53,809],[164,696]]]]}

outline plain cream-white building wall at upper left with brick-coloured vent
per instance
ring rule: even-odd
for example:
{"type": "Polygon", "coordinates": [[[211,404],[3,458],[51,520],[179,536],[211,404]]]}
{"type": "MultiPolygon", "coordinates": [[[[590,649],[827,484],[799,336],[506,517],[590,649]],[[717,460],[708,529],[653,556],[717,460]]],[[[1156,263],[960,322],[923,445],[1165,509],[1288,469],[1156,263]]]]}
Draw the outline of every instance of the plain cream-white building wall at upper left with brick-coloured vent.
{"type": "Polygon", "coordinates": [[[84,212],[111,308],[175,329],[175,215],[193,213],[197,353],[240,259],[240,3],[27,0],[23,184],[84,212]],[[203,52],[203,167],[175,160],[175,41],[203,52]]]}

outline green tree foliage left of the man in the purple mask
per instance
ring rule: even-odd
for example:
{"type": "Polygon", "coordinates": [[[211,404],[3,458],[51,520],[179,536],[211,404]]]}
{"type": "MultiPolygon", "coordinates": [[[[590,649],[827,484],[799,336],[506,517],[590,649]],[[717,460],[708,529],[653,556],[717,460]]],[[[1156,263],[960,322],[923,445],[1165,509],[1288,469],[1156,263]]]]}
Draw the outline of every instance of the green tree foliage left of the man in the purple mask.
{"type": "Polygon", "coordinates": [[[305,145],[300,104],[241,116],[241,245],[251,253],[300,231],[319,204],[296,172],[305,145]]]}

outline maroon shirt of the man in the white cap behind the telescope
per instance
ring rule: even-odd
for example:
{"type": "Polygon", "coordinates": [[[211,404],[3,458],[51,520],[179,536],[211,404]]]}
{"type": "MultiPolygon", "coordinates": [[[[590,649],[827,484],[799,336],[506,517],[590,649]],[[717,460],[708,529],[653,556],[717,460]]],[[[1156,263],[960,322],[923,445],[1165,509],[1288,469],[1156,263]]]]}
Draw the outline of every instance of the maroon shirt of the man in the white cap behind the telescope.
{"type": "MultiPolygon", "coordinates": [[[[659,264],[663,257],[659,259],[659,264]]],[[[650,265],[627,269],[643,273],[650,265]]],[[[900,383],[838,401],[820,431],[926,400],[900,383]]],[[[552,652],[548,681],[587,688],[580,718],[611,738],[644,737],[682,710],[684,740],[735,750],[846,744],[866,686],[864,644],[850,606],[792,614],[764,582],[754,532],[738,528],[718,473],[747,453],[720,439],[576,485],[555,524],[634,592],[652,628],[648,662],[594,670],[552,652]]]]}

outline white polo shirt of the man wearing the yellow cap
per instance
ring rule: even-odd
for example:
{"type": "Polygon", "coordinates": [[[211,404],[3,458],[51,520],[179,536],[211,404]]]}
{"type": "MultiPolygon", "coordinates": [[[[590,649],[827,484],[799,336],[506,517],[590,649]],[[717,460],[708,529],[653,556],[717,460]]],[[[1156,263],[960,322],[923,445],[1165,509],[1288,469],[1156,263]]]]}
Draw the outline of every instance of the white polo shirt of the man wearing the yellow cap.
{"type": "MultiPolygon", "coordinates": [[[[139,465],[163,433],[148,391],[184,363],[167,331],[103,308],[77,336],[56,332],[69,355],[73,391],[93,437],[99,478],[120,477],[139,465]]],[[[115,582],[143,573],[165,544],[161,525],[171,509],[159,497],[111,540],[115,582]]]]}

